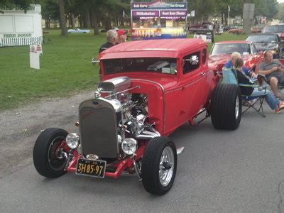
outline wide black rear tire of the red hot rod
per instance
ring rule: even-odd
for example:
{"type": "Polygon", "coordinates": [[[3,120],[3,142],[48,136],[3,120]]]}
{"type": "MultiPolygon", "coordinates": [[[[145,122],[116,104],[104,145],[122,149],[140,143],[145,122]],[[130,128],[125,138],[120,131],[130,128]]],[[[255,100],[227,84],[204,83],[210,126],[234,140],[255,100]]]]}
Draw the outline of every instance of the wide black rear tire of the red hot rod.
{"type": "Polygon", "coordinates": [[[211,121],[216,129],[234,130],[241,122],[241,91],[237,84],[218,84],[211,100],[211,121]]]}

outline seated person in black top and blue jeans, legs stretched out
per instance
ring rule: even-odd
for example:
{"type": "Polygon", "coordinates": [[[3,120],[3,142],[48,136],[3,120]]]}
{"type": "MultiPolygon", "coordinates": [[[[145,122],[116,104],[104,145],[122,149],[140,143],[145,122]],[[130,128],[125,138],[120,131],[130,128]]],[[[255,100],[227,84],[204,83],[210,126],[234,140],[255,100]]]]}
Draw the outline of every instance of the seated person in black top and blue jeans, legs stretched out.
{"type": "MultiPolygon", "coordinates": [[[[234,62],[234,69],[236,70],[236,77],[239,84],[253,84],[250,82],[250,77],[243,71],[244,61],[241,58],[237,58],[234,62]]],[[[259,90],[258,88],[240,86],[241,94],[245,96],[261,96],[266,94],[266,102],[271,109],[275,110],[275,113],[280,113],[280,109],[284,108],[284,102],[280,102],[274,94],[266,89],[259,90]]]]}

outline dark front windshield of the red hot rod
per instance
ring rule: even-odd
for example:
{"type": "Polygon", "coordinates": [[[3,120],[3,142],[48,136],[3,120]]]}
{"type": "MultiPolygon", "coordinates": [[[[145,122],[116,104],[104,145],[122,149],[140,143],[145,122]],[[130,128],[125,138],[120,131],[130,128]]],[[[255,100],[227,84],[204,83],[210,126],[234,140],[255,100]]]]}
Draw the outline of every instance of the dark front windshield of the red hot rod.
{"type": "Polygon", "coordinates": [[[103,60],[106,75],[120,72],[153,72],[176,75],[176,58],[116,58],[103,60]]]}

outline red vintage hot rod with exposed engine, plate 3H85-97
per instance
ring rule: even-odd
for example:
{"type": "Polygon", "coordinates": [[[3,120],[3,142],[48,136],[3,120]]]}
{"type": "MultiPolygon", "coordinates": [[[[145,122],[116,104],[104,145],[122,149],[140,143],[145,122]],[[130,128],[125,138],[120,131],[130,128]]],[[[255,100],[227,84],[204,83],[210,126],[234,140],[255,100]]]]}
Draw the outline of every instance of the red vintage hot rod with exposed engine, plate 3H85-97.
{"type": "Polygon", "coordinates": [[[155,195],[170,190],[177,170],[168,137],[206,111],[216,129],[236,129],[241,94],[218,84],[200,39],[142,40],[99,55],[102,82],[79,106],[78,133],[45,129],[35,141],[35,169],[47,178],[66,172],[96,178],[136,174],[155,195]]]}

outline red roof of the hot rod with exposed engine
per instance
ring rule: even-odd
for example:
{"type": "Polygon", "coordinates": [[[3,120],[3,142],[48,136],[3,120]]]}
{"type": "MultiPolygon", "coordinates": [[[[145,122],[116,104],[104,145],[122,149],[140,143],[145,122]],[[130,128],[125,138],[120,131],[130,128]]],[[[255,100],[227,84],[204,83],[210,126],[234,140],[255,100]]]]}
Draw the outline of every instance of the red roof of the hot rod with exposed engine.
{"type": "Polygon", "coordinates": [[[188,50],[206,46],[203,40],[194,38],[175,38],[159,40],[136,40],[114,45],[104,50],[99,59],[162,57],[178,58],[188,50]]]}

